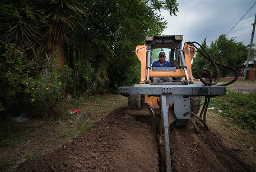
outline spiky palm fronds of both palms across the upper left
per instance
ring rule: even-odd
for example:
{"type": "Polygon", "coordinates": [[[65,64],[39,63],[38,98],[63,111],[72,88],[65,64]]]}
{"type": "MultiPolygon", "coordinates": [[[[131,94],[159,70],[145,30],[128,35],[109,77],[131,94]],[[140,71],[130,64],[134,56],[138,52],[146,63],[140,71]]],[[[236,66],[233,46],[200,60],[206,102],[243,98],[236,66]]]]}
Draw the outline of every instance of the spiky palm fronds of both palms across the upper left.
{"type": "Polygon", "coordinates": [[[60,43],[67,42],[64,27],[74,28],[76,17],[81,14],[85,14],[84,10],[75,0],[3,0],[0,37],[19,46],[43,43],[52,53],[60,43]]]}

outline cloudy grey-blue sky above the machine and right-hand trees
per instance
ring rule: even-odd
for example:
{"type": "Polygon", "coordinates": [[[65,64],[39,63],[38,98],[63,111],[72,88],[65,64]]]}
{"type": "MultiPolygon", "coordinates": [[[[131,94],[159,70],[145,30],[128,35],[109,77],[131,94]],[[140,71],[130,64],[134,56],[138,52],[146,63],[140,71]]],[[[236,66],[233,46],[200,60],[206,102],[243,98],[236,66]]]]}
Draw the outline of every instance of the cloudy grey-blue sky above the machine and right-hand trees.
{"type": "MultiPolygon", "coordinates": [[[[206,38],[207,45],[227,34],[232,27],[253,6],[255,0],[177,0],[179,13],[170,16],[168,11],[161,10],[167,21],[164,35],[184,35],[183,42],[202,43],[206,38]]],[[[227,35],[228,39],[236,37],[236,42],[250,44],[251,33],[256,13],[256,4],[227,35]]],[[[256,34],[253,43],[256,43],[256,34]]]]}

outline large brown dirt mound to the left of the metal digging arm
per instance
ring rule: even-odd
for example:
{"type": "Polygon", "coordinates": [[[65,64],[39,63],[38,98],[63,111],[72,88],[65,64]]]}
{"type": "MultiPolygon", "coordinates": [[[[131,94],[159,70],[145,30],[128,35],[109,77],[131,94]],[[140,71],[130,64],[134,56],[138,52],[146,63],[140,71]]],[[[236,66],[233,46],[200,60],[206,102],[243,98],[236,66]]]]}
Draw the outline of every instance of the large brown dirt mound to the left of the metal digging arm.
{"type": "Polygon", "coordinates": [[[79,138],[16,171],[157,171],[154,122],[123,118],[124,110],[115,109],[79,138]]]}

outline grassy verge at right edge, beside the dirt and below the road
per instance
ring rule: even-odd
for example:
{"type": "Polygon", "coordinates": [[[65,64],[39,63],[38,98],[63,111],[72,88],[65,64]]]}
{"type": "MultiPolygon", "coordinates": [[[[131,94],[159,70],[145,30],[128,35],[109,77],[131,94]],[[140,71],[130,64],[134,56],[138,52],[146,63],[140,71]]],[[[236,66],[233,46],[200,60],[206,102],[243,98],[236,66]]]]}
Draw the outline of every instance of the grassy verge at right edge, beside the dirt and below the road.
{"type": "Polygon", "coordinates": [[[214,110],[207,111],[207,124],[225,147],[256,169],[256,92],[227,92],[211,98],[214,110]]]}

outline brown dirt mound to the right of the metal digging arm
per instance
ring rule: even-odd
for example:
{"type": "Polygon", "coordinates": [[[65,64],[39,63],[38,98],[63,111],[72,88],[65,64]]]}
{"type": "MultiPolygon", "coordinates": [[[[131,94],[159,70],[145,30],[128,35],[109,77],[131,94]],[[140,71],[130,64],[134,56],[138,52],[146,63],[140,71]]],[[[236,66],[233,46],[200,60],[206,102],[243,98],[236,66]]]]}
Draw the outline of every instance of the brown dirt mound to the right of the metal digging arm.
{"type": "Polygon", "coordinates": [[[253,171],[196,119],[171,127],[169,137],[173,171],[253,171]]]}

